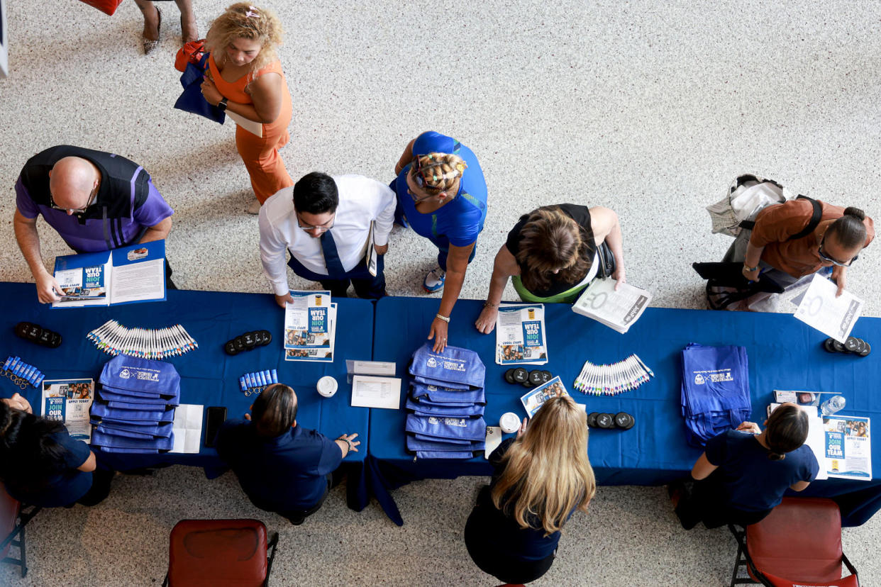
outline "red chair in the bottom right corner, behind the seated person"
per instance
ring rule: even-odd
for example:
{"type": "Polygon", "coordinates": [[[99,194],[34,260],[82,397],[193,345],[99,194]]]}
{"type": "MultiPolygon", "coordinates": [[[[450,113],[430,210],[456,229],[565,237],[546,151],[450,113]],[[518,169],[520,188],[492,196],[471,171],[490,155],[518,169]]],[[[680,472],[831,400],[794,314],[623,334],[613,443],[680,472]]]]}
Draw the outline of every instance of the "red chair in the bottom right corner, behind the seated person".
{"type": "Polygon", "coordinates": [[[859,587],[854,565],[841,551],[838,504],[820,497],[784,497],[758,524],[739,530],[731,587],[760,583],[767,587],[859,587]],[[850,575],[841,578],[841,563],[850,575]],[[745,566],[749,578],[738,579],[745,566]]]}

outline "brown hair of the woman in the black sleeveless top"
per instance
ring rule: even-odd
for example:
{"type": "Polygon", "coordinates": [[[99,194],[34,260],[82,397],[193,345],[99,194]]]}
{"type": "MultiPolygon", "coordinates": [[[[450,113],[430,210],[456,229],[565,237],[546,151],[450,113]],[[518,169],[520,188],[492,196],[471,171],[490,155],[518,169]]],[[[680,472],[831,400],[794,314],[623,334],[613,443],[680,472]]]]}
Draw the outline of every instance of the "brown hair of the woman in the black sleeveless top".
{"type": "Polygon", "coordinates": [[[520,231],[517,264],[527,290],[547,290],[557,278],[576,283],[588,275],[596,244],[594,233],[566,215],[558,206],[543,206],[521,216],[526,224],[520,231]]]}

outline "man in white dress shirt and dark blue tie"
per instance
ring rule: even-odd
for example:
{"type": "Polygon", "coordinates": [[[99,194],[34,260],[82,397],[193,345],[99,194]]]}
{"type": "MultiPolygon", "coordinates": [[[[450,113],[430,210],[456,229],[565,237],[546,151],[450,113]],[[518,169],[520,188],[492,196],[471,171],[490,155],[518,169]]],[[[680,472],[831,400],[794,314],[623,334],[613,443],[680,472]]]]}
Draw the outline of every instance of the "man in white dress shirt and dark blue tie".
{"type": "Polygon", "coordinates": [[[358,297],[385,296],[383,255],[395,220],[395,192],[361,175],[330,177],[312,172],[285,187],[260,209],[260,260],[276,302],[292,302],[287,264],[304,279],[321,282],[332,297],[345,297],[349,283],[358,297]],[[376,276],[366,266],[374,223],[376,276]]]}

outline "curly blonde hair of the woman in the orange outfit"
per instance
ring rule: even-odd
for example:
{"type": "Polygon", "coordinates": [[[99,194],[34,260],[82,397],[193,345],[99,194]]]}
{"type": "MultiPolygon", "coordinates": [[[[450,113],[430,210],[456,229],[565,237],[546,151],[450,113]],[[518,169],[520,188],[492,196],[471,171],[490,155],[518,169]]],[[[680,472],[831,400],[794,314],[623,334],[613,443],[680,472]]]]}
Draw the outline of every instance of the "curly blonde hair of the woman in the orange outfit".
{"type": "Polygon", "coordinates": [[[218,55],[236,39],[259,40],[260,53],[250,63],[253,72],[278,59],[276,47],[281,45],[284,33],[275,12],[238,2],[211,23],[205,35],[205,48],[218,55]]]}

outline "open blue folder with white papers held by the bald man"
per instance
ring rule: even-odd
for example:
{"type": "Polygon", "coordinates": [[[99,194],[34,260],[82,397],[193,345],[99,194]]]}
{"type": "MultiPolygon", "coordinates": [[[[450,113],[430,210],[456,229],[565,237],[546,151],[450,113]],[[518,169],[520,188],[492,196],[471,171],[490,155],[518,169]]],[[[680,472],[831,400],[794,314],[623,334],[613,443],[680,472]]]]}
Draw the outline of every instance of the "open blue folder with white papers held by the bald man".
{"type": "Polygon", "coordinates": [[[165,241],[56,257],[61,301],[53,308],[133,304],[166,298],[165,241]]]}

